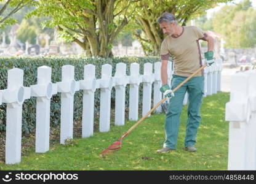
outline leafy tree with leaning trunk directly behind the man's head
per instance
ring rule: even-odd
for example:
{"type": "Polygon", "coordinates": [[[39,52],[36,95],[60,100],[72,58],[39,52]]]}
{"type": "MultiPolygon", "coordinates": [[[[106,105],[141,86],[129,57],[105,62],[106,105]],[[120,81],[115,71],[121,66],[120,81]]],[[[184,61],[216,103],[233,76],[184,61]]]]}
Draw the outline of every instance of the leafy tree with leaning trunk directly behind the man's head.
{"type": "Polygon", "coordinates": [[[188,20],[205,13],[207,9],[217,6],[218,2],[231,0],[155,0],[140,2],[137,18],[134,21],[134,34],[148,55],[158,55],[164,35],[156,22],[163,12],[175,15],[180,25],[185,26],[188,20]],[[137,30],[141,29],[142,33],[137,30]]]}

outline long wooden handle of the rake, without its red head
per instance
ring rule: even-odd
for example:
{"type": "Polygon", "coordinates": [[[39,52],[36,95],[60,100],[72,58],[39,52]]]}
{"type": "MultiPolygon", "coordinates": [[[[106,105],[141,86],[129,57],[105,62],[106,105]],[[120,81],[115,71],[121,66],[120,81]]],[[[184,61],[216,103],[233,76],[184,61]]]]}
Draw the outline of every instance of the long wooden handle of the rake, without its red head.
{"type": "MultiPolygon", "coordinates": [[[[178,88],[180,88],[180,86],[182,86],[184,83],[186,83],[188,80],[190,80],[192,77],[194,77],[194,75],[196,75],[198,72],[200,72],[202,69],[204,69],[204,67],[206,67],[207,64],[204,64],[203,66],[201,66],[196,72],[194,72],[193,74],[190,75],[190,77],[186,78],[185,80],[183,80],[182,83],[180,83],[176,88],[174,88],[174,90],[172,90],[173,92],[177,91],[178,88]]],[[[158,106],[160,104],[162,104],[162,102],[166,101],[166,98],[161,99],[161,101],[158,102],[158,104],[154,105],[154,107],[148,112],[146,113],[142,118],[140,118],[140,120],[138,120],[137,123],[135,123],[127,132],[126,135],[129,134],[133,129],[136,128],[136,126],[138,124],[140,124],[146,117],[148,117],[148,115],[150,115],[154,110],[156,110],[156,108],[158,108],[158,106]]]]}

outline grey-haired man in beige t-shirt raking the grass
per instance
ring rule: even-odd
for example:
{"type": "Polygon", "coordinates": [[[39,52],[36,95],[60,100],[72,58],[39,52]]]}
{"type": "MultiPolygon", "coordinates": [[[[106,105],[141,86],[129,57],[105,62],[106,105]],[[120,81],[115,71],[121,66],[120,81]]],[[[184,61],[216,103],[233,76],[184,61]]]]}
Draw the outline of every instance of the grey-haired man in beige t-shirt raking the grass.
{"type": "Polygon", "coordinates": [[[180,113],[182,112],[183,99],[188,92],[188,120],[186,123],[185,149],[196,151],[196,134],[201,121],[200,107],[202,95],[204,94],[204,75],[198,72],[188,82],[181,86],[175,94],[172,90],[182,83],[187,77],[193,74],[202,66],[199,39],[207,41],[208,51],[204,53],[207,59],[207,66],[214,63],[214,39],[204,33],[196,26],[179,26],[177,20],[171,13],[163,13],[158,18],[158,23],[164,34],[167,34],[161,45],[161,79],[162,87],[160,91],[164,97],[170,99],[166,113],[166,140],[162,149],[158,153],[176,150],[178,138],[178,125],[180,123],[180,113]],[[174,62],[174,75],[172,77],[171,88],[167,83],[167,64],[169,56],[174,62]]]}

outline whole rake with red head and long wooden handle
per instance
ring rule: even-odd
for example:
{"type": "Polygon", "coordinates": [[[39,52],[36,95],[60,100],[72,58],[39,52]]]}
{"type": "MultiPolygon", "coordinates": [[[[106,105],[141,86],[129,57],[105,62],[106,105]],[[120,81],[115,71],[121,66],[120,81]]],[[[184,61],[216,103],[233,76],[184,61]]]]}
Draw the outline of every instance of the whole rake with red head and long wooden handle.
{"type": "MultiPolygon", "coordinates": [[[[188,80],[190,80],[194,75],[196,75],[198,72],[200,72],[202,69],[204,69],[204,67],[206,67],[207,64],[204,64],[203,66],[201,66],[196,72],[194,72],[193,74],[191,74],[188,78],[186,78],[185,80],[183,80],[182,83],[180,83],[176,88],[174,88],[174,90],[172,90],[173,92],[177,91],[178,88],[180,88],[180,86],[182,86],[184,83],[186,83],[188,80]]],[[[105,150],[103,150],[100,153],[100,156],[103,157],[109,153],[112,153],[113,151],[117,151],[121,148],[122,145],[122,139],[124,139],[124,137],[126,137],[133,129],[135,129],[138,124],[140,124],[146,117],[148,117],[148,115],[150,115],[154,110],[156,110],[156,108],[158,108],[158,106],[160,104],[162,104],[162,102],[166,101],[167,98],[163,98],[161,99],[161,101],[158,102],[158,104],[156,104],[148,113],[146,113],[142,118],[140,118],[140,120],[137,121],[137,123],[135,123],[125,134],[122,135],[122,137],[120,137],[118,140],[116,140],[116,142],[114,142],[113,144],[111,144],[108,148],[106,148],[105,150]]]]}

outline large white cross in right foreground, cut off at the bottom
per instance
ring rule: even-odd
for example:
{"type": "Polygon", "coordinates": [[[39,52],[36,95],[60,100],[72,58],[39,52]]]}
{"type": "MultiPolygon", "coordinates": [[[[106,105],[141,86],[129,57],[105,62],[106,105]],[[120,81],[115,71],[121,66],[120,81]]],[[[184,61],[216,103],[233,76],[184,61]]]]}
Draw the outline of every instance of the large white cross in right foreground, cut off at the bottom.
{"type": "Polygon", "coordinates": [[[228,170],[247,169],[247,123],[250,120],[249,85],[249,75],[244,73],[234,74],[231,78],[230,102],[226,103],[225,113],[225,120],[230,121],[228,170]]]}

